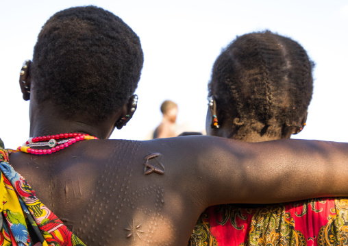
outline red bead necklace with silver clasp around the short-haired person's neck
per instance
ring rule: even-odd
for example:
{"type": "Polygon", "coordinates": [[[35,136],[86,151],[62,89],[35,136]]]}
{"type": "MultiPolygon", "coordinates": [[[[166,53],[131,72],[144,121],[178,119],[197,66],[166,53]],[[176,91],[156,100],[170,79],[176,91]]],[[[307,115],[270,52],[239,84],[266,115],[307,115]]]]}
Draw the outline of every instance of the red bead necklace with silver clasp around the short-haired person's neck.
{"type": "Polygon", "coordinates": [[[81,140],[99,139],[95,136],[81,133],[65,133],[48,136],[36,136],[29,138],[22,146],[17,148],[17,151],[24,153],[33,153],[35,155],[46,155],[60,151],[81,140]],[[62,139],[60,141],[57,141],[62,139]],[[46,141],[46,142],[45,142],[46,141]],[[51,149],[34,149],[32,147],[51,147],[51,149]]]}

